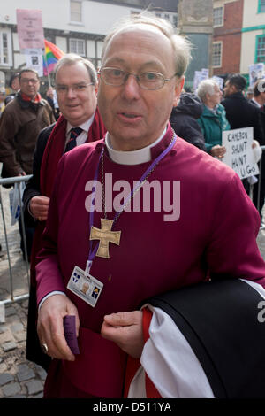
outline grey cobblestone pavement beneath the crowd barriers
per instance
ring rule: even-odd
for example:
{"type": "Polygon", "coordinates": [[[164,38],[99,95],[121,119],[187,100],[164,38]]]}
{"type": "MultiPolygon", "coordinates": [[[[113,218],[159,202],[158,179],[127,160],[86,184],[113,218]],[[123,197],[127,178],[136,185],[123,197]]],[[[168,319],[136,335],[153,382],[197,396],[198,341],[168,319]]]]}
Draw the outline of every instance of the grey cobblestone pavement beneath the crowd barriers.
{"type": "MultiPolygon", "coordinates": [[[[4,215],[8,228],[13,273],[13,296],[28,292],[27,263],[19,249],[19,227],[11,227],[8,189],[1,189],[4,215]]],[[[0,301],[10,298],[9,265],[4,240],[3,221],[0,219],[0,301]]],[[[265,259],[265,230],[258,235],[261,255],[265,259]]],[[[0,303],[1,304],[1,303],[0,303]]],[[[0,310],[0,398],[41,398],[46,373],[26,358],[27,299],[5,305],[5,322],[0,310]]]]}

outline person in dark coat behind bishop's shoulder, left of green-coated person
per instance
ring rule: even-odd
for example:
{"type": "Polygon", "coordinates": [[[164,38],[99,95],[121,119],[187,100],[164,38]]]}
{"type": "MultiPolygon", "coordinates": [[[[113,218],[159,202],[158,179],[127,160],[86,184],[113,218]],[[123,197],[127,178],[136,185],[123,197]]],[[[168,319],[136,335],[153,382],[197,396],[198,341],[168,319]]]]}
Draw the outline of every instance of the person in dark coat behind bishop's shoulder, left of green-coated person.
{"type": "Polygon", "coordinates": [[[177,107],[173,107],[170,115],[170,125],[176,135],[193,144],[198,149],[205,149],[205,142],[197,119],[201,117],[203,105],[201,99],[192,93],[180,96],[177,107]]]}

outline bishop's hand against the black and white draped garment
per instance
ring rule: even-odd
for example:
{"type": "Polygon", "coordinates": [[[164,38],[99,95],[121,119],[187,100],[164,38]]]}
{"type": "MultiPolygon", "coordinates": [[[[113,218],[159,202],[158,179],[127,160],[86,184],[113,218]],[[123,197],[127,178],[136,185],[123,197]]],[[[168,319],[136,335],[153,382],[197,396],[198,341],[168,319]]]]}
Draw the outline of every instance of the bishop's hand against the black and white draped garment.
{"type": "Polygon", "coordinates": [[[103,338],[117,343],[121,350],[133,358],[140,358],[144,346],[142,312],[118,312],[106,315],[101,334],[103,338]]]}

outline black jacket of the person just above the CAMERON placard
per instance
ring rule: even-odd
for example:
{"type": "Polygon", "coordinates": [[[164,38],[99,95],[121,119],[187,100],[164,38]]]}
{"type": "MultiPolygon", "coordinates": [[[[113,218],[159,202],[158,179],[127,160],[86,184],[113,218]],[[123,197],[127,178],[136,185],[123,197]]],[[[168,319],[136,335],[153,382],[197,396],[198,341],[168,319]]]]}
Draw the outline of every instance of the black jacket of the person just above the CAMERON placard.
{"type": "Polygon", "coordinates": [[[222,101],[231,129],[254,127],[254,139],[261,145],[265,144],[265,137],[261,128],[259,109],[247,101],[241,92],[228,96],[222,101]]]}

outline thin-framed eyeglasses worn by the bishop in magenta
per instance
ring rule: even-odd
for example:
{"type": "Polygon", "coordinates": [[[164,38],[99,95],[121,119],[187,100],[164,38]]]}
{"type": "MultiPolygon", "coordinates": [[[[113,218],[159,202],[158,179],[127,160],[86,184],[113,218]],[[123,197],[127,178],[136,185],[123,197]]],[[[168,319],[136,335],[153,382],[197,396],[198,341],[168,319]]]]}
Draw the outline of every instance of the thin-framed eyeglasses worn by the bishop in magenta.
{"type": "Polygon", "coordinates": [[[107,85],[120,87],[125,84],[130,75],[135,76],[140,88],[142,89],[162,89],[165,82],[169,82],[177,73],[174,73],[170,78],[165,78],[162,73],[146,72],[146,73],[126,73],[118,68],[101,68],[98,72],[102,80],[107,85]]]}

